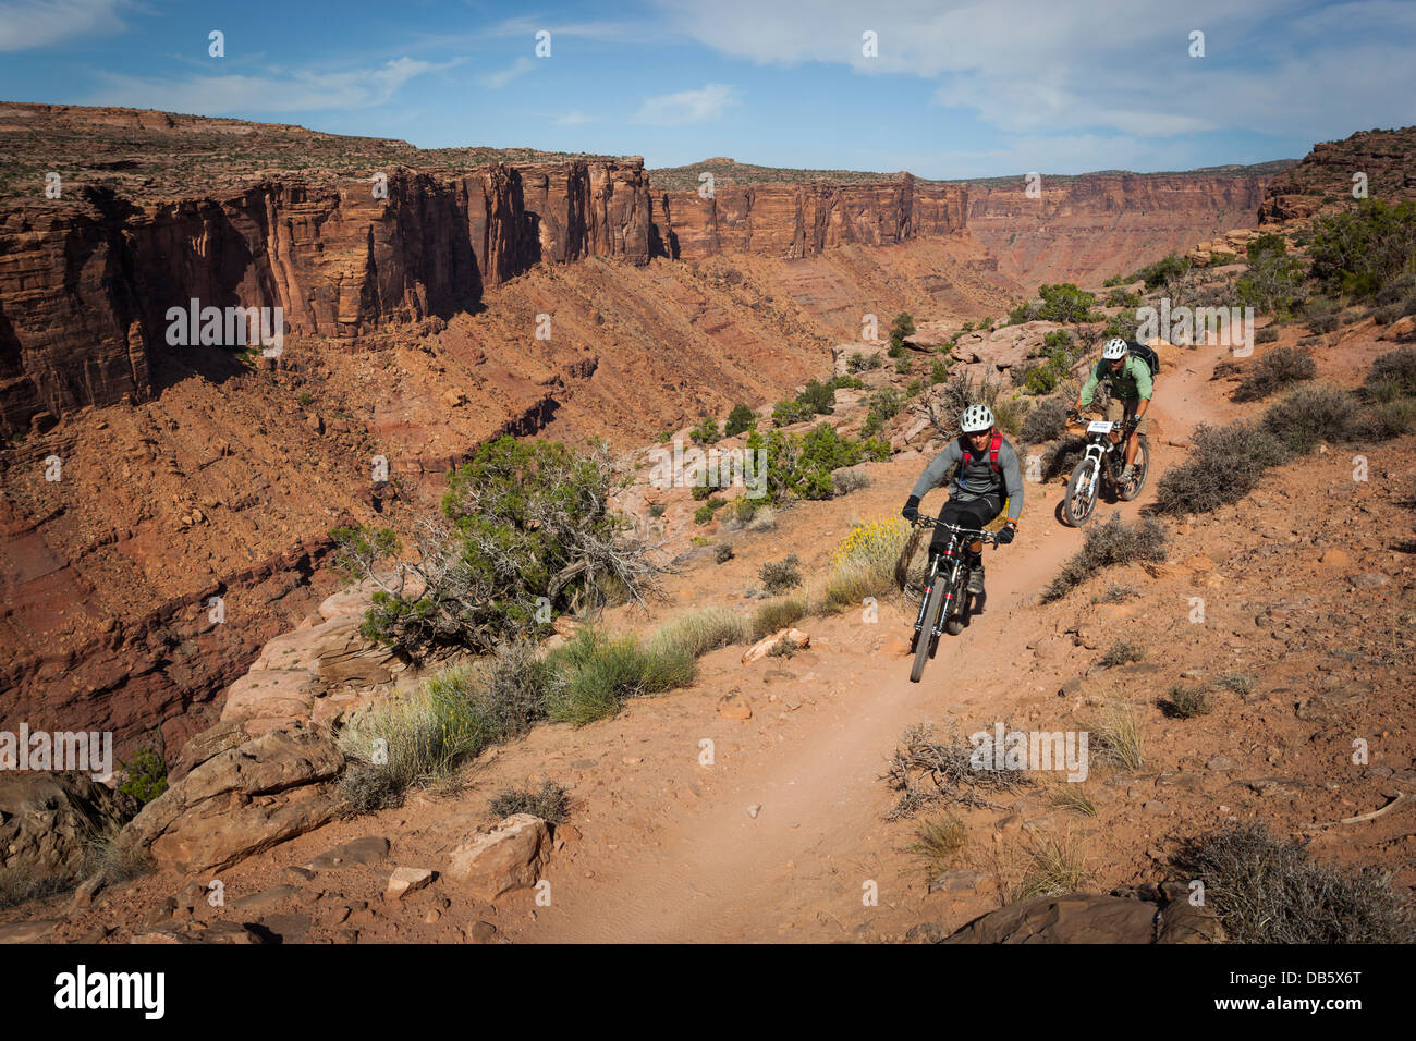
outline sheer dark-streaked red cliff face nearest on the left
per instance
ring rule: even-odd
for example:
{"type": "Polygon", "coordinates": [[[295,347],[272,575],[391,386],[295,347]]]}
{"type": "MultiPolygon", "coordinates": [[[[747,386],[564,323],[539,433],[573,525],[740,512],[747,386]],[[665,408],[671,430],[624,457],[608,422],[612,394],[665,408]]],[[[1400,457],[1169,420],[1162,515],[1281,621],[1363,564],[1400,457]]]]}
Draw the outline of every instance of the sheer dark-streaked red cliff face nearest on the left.
{"type": "Polygon", "coordinates": [[[649,259],[640,160],[498,163],[368,183],[263,180],[130,201],[89,188],[0,214],[0,433],[152,397],[169,307],[282,307],[287,333],[344,337],[450,316],[538,261],[649,259]]]}

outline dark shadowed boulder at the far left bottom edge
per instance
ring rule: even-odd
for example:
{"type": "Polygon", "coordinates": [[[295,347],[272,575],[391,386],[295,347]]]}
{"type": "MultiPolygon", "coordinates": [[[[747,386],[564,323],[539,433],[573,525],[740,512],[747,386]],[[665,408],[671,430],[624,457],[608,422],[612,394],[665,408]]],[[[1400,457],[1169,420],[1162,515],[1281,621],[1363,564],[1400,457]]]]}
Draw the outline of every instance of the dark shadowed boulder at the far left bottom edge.
{"type": "Polygon", "coordinates": [[[115,834],[137,809],[86,773],[0,772],[0,864],[37,878],[74,875],[89,840],[115,834]]]}

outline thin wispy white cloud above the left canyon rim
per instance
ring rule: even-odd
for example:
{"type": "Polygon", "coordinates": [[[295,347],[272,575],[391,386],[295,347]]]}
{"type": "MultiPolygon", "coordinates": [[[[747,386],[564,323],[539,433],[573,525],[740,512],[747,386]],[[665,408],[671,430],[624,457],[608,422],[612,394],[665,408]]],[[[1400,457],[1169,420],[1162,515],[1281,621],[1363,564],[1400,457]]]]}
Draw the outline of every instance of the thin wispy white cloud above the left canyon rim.
{"type": "Polygon", "coordinates": [[[368,108],[387,102],[415,76],[452,68],[460,59],[433,64],[398,58],[378,68],[346,72],[285,72],[270,75],[212,75],[183,79],[143,79],[102,74],[103,86],[89,105],[166,109],[204,116],[251,112],[304,112],[368,108]]]}

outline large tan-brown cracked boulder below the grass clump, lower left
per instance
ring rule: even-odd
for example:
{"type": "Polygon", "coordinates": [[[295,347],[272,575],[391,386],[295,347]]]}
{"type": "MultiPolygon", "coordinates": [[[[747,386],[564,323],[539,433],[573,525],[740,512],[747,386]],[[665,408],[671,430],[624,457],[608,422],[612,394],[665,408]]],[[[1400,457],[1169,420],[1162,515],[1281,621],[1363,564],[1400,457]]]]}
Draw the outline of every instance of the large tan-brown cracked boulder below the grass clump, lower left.
{"type": "Polygon", "coordinates": [[[270,731],[218,752],[143,807],[125,843],[180,871],[228,867],[304,834],[344,807],[344,756],[307,729],[270,731]]]}

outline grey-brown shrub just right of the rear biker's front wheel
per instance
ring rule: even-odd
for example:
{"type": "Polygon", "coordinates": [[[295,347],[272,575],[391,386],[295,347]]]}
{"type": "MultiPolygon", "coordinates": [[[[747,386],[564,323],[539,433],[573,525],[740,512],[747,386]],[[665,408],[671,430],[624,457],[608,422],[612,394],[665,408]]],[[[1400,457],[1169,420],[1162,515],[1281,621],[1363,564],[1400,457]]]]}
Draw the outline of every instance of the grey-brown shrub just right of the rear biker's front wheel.
{"type": "Polygon", "coordinates": [[[1155,486],[1158,513],[1209,513],[1236,503],[1266,470],[1289,457],[1264,425],[1245,419],[1218,428],[1201,423],[1191,440],[1185,462],[1168,469],[1155,486]]]}

